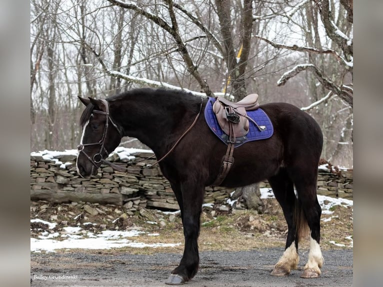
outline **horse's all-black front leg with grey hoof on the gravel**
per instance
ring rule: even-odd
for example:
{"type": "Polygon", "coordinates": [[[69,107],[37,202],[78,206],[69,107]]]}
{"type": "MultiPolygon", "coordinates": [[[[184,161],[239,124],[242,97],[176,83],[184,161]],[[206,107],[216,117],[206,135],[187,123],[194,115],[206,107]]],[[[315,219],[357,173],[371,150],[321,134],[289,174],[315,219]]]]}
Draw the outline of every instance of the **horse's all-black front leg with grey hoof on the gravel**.
{"type": "Polygon", "coordinates": [[[198,183],[182,183],[183,235],[185,245],[179,265],[171,272],[166,284],[179,285],[190,280],[197,273],[199,264],[198,235],[199,216],[203,203],[203,186],[198,183]]]}

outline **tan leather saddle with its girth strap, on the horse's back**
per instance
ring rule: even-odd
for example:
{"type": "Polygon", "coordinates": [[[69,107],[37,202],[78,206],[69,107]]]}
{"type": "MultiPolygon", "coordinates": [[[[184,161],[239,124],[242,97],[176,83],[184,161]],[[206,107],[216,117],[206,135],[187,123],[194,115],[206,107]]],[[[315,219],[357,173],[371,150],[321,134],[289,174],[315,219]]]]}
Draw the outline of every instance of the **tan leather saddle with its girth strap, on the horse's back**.
{"type": "MultiPolygon", "coordinates": [[[[215,99],[212,109],[223,132],[228,135],[228,143],[226,154],[222,157],[221,168],[212,184],[213,186],[222,183],[234,162],[232,154],[235,138],[245,136],[248,133],[248,121],[252,119],[247,116],[246,110],[255,110],[259,107],[257,102],[258,95],[256,93],[246,95],[237,102],[231,102],[221,96],[217,96],[215,99]]],[[[256,122],[253,122],[259,128],[256,122]]]]}

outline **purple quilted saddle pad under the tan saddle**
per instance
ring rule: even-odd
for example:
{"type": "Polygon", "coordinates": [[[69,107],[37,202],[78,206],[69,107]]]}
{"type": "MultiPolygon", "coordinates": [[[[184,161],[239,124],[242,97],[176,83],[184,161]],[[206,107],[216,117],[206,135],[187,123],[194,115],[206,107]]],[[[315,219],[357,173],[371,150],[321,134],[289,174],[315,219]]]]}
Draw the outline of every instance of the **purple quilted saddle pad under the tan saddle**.
{"type": "MultiPolygon", "coordinates": [[[[209,97],[207,104],[205,106],[205,120],[207,125],[210,127],[211,131],[218,136],[220,140],[222,140],[225,144],[228,141],[228,135],[223,132],[220,128],[218,120],[213,112],[213,103],[215,102],[215,98],[209,97]]],[[[264,126],[263,130],[259,130],[256,125],[249,120],[249,130],[245,136],[235,138],[234,147],[242,145],[247,141],[259,140],[269,138],[274,132],[274,128],[270,121],[270,118],[261,108],[257,108],[255,110],[246,111],[247,115],[251,117],[258,126],[264,126]]]]}

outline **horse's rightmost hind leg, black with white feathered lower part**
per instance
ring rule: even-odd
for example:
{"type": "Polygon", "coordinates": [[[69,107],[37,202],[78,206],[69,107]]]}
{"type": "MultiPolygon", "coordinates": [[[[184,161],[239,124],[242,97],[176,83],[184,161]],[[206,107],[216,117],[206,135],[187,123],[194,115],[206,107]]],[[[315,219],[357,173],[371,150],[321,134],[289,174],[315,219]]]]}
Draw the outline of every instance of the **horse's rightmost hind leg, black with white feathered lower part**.
{"type": "MultiPolygon", "coordinates": [[[[298,174],[298,173],[295,173],[298,174]]],[[[319,246],[321,207],[316,197],[317,167],[300,168],[299,176],[294,176],[298,200],[303,208],[305,219],[310,228],[310,251],[308,260],[301,275],[303,278],[315,278],[320,275],[323,256],[319,246]]]]}

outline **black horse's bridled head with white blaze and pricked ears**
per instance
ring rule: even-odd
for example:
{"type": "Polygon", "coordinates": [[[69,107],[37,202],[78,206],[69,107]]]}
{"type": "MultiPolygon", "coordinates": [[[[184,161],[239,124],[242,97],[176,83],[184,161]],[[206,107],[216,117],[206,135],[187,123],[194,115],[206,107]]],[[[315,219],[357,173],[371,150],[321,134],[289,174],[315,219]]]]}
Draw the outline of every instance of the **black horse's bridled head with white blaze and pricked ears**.
{"type": "Polygon", "coordinates": [[[118,146],[122,132],[111,118],[106,100],[78,98],[86,107],[80,118],[82,135],[76,169],[81,177],[88,177],[97,174],[104,158],[118,146]]]}

